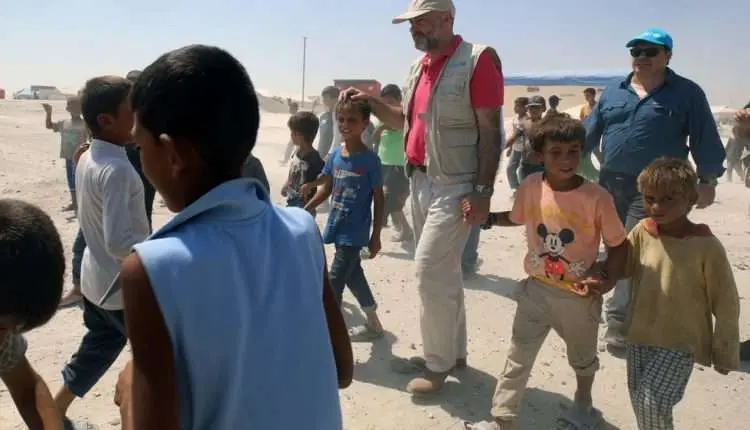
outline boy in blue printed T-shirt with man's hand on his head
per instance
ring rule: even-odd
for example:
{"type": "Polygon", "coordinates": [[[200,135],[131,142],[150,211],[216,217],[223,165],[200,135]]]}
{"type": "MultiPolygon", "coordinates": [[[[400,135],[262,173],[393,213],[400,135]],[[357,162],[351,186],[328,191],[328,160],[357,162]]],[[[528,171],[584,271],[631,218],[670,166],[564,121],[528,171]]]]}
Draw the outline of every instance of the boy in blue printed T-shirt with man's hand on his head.
{"type": "Polygon", "coordinates": [[[311,213],[331,197],[331,210],[323,232],[323,241],[336,246],[331,263],[331,285],[339,303],[345,286],[359,302],[367,322],[364,327],[352,330],[351,339],[366,342],[383,337],[378,306],[362,269],[362,258],[374,258],[380,251],[380,231],[385,220],[380,159],[362,140],[362,133],[370,124],[370,106],[366,102],[339,102],[336,121],[344,143],[333,149],[323,173],[303,185],[300,194],[307,195],[313,187],[319,187],[305,205],[311,213]]]}

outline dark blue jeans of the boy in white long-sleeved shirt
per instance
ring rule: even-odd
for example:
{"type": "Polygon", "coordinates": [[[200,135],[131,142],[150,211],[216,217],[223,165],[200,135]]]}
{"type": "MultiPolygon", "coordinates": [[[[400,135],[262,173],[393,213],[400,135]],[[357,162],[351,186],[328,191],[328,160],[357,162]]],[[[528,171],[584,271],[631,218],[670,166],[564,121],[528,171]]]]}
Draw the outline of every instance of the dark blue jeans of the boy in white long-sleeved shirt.
{"type": "Polygon", "coordinates": [[[83,323],[87,332],[62,371],[65,388],[78,397],[99,382],[127,342],[123,311],[108,311],[84,298],[83,323]]]}

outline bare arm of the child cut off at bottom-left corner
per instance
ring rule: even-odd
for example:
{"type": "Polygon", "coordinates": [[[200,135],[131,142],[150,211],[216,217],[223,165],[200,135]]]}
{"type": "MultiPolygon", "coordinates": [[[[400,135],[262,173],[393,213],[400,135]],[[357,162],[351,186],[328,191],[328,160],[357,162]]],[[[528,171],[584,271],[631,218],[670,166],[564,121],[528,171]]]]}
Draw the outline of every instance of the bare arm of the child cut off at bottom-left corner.
{"type": "Polygon", "coordinates": [[[62,416],[49,388],[24,357],[12,369],[0,373],[26,426],[31,430],[62,430],[62,416]]]}

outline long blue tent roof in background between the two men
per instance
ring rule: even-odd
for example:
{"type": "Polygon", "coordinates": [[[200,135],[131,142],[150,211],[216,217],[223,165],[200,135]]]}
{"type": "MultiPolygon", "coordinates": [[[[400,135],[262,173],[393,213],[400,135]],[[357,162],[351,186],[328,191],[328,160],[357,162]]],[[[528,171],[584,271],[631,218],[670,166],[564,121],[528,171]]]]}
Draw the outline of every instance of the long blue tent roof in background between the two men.
{"type": "Polygon", "coordinates": [[[519,75],[506,75],[505,85],[522,85],[526,87],[552,85],[606,87],[618,80],[624,79],[629,73],[630,70],[628,69],[523,73],[519,75]]]}

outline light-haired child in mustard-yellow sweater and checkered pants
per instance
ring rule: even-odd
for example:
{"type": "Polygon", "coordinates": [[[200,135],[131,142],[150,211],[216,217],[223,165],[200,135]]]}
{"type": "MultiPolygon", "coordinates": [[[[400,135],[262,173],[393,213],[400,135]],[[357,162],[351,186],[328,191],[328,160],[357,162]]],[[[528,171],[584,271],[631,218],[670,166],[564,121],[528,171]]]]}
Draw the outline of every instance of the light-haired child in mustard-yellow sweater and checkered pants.
{"type": "Polygon", "coordinates": [[[638,176],[649,218],[630,232],[624,266],[632,278],[625,322],[628,390],[641,430],[674,428],[672,410],[695,363],[713,365],[722,375],[739,366],[732,268],[708,226],[688,219],[697,186],[690,164],[675,158],[659,158],[638,176]]]}

